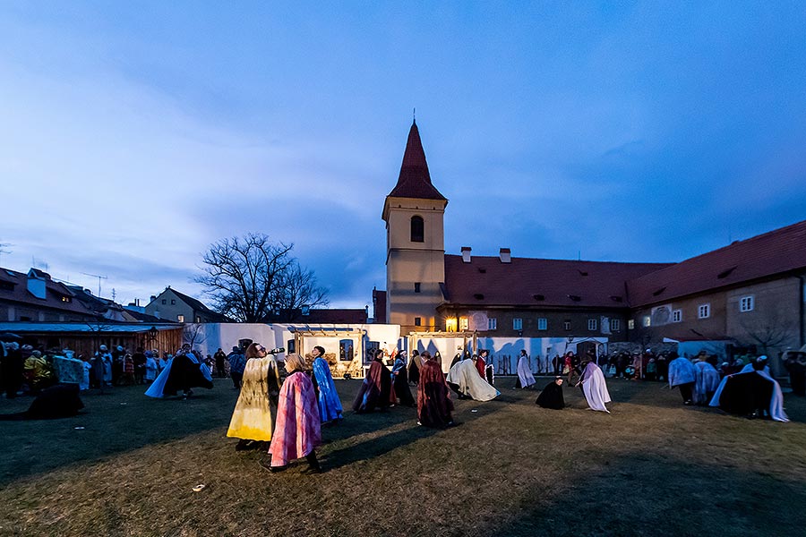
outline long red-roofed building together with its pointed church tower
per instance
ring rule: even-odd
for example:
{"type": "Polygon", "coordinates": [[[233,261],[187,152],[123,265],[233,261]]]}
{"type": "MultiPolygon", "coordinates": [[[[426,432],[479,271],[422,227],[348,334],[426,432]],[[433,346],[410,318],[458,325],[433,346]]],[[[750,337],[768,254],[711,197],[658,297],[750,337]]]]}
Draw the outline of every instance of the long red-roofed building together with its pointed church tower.
{"type": "Polygon", "coordinates": [[[410,332],[725,340],[776,355],[806,344],[806,221],[679,263],[446,254],[448,200],[412,124],[386,197],[386,319],[410,332]]]}

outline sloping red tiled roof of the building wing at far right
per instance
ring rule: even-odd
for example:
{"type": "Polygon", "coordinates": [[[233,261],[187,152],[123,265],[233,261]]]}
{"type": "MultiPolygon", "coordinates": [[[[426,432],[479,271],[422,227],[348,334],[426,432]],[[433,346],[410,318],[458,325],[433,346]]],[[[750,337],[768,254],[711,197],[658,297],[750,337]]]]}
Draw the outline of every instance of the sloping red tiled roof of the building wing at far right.
{"type": "Polygon", "coordinates": [[[630,303],[664,303],[802,268],[806,268],[806,220],[637,277],[628,284],[630,303]]]}

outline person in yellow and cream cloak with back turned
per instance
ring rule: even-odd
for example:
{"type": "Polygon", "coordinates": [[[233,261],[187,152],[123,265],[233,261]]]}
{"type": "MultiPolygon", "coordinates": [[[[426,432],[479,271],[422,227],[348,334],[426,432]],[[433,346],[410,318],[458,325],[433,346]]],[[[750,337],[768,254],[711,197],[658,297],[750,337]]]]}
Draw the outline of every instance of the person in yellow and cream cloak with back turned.
{"type": "MultiPolygon", "coordinates": [[[[280,380],[277,361],[263,345],[246,348],[246,369],[241,394],[229,422],[227,437],[240,439],[236,451],[262,448],[271,440],[274,423],[271,407],[277,408],[280,380]]],[[[268,445],[266,445],[268,448],[268,445]]]]}

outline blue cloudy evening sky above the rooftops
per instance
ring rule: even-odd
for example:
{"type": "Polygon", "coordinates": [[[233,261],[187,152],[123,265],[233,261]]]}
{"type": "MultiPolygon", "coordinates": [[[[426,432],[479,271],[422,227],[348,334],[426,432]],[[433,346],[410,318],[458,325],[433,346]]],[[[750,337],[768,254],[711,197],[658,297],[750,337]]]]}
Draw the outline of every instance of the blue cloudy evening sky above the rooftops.
{"type": "Polygon", "coordinates": [[[118,302],[250,231],[385,286],[412,108],[459,253],[677,261],[806,218],[803,2],[0,3],[0,266],[118,302]]]}

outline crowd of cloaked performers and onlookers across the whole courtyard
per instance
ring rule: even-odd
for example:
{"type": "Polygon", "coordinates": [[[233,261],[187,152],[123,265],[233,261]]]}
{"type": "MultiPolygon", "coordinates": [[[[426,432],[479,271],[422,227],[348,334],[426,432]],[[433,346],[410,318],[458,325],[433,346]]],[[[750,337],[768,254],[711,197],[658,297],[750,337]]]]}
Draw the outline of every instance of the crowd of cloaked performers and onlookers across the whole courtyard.
{"type": "MultiPolygon", "coordinates": [[[[416,407],[418,425],[445,428],[454,423],[451,392],[459,399],[479,402],[501,395],[495,388],[493,360],[484,349],[478,354],[469,350],[456,354],[447,375],[439,353],[415,350],[408,357],[400,351],[387,359],[382,349],[371,349],[370,358],[352,405],[356,415],[388,412],[395,406],[416,407]]],[[[521,351],[516,389],[536,389],[531,363],[527,352],[521,351]]],[[[563,385],[567,383],[568,388],[581,390],[589,409],[609,413],[606,378],[621,377],[665,382],[679,391],[683,405],[718,406],[728,413],[788,421],[782,390],[769,375],[766,356],[742,355],[719,362],[705,351],[690,359],[674,352],[596,356],[591,350],[583,355],[556,355],[551,363],[552,378],[536,398],[536,405],[547,409],[565,406],[563,385]]],[[[802,353],[785,356],[785,367],[792,376],[793,393],[804,395],[806,357],[802,353]]],[[[238,439],[236,450],[266,451],[270,458],[262,465],[270,472],[282,472],[296,459],[307,461],[308,472],[321,471],[315,449],[322,443],[322,426],[341,422],[344,410],[320,345],[313,347],[308,359],[287,354],[280,363],[258,343],[234,346],[229,354],[219,348],[206,358],[191,345],[161,356],[157,350],[137,348],[129,353],[123,346],[109,350],[99,345],[92,356],[78,357],[66,349],[45,351],[13,340],[0,345],[0,379],[7,397],[28,391],[42,394],[44,402],[62,401],[59,405],[65,408],[81,407],[80,399],[71,398],[77,398],[79,388],[148,385],[147,396],[181,392],[186,399],[193,395],[193,388],[212,388],[213,377],[228,377],[239,390],[227,429],[227,437],[238,439]],[[60,379],[64,382],[64,376],[75,380],[70,389],[57,384],[60,379]],[[67,401],[71,403],[65,405],[67,401]]],[[[41,405],[16,416],[27,419],[35,408],[41,405]]],[[[9,414],[4,419],[16,418],[9,414]]]]}

